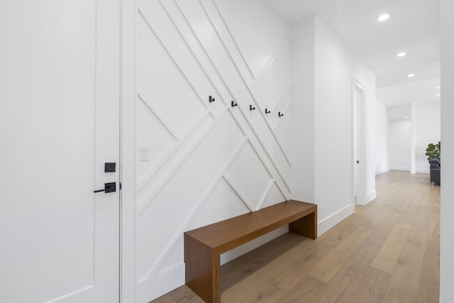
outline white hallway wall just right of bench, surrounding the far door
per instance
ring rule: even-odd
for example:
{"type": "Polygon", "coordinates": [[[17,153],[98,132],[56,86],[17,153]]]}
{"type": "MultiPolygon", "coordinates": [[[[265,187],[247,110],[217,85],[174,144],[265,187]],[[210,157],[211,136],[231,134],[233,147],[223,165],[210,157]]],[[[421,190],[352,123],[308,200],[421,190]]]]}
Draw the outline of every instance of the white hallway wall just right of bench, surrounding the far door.
{"type": "MultiPolygon", "coordinates": [[[[293,192],[292,197],[314,197],[321,234],[353,213],[353,79],[366,88],[367,199],[375,198],[375,76],[319,18],[300,21],[292,33],[295,109],[306,114],[314,110],[314,119],[295,124],[294,132],[307,140],[306,148],[300,147],[295,157],[314,159],[315,165],[315,182],[307,182],[305,191],[293,192]],[[310,80],[313,69],[315,82],[310,80]]],[[[303,184],[312,173],[309,168],[304,177],[297,174],[294,182],[303,184]]]]}

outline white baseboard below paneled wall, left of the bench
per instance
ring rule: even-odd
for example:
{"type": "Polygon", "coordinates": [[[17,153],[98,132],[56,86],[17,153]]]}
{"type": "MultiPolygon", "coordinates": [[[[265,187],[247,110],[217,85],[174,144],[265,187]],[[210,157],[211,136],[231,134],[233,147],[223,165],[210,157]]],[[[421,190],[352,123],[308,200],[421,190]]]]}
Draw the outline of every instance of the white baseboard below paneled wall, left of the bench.
{"type": "Polygon", "coordinates": [[[148,303],[182,285],[184,285],[184,263],[139,282],[135,292],[135,303],[148,303]]]}

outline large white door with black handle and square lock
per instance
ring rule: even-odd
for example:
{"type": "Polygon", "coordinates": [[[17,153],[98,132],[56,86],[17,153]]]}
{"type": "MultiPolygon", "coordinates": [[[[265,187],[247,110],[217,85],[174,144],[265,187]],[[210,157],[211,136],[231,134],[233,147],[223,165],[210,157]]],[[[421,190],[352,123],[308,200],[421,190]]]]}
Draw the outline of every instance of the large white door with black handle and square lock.
{"type": "Polygon", "coordinates": [[[0,302],[118,302],[119,9],[0,1],[0,302]]]}

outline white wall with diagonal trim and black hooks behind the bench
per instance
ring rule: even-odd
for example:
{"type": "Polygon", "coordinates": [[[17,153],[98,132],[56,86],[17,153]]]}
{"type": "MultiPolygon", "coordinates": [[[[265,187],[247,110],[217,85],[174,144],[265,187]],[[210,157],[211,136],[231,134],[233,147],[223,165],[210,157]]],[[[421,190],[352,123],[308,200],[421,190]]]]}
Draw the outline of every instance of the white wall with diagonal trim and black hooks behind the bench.
{"type": "Polygon", "coordinates": [[[184,283],[184,231],[289,199],[289,33],[257,0],[138,1],[137,302],[184,283]]]}

